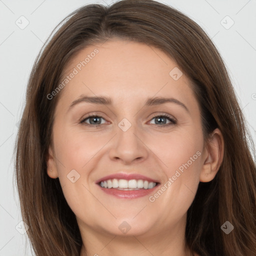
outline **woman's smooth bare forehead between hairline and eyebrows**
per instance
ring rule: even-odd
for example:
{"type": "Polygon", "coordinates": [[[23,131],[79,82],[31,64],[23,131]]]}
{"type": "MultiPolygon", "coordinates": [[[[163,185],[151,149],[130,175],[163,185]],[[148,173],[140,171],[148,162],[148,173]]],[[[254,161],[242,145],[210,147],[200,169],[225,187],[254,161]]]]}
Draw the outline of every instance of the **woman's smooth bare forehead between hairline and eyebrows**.
{"type": "Polygon", "coordinates": [[[67,82],[61,94],[66,98],[80,94],[106,95],[114,100],[192,96],[189,79],[177,64],[160,49],[144,43],[109,40],[89,45],[71,59],[63,73],[62,81],[67,82]]]}

